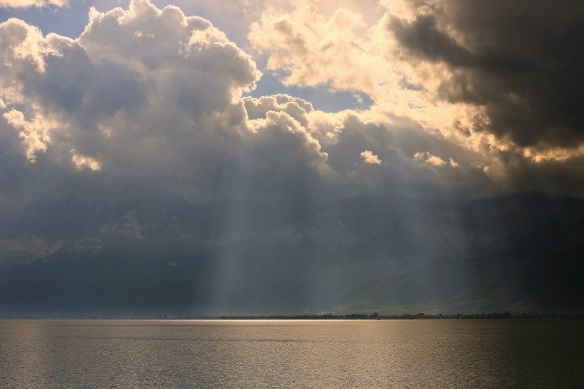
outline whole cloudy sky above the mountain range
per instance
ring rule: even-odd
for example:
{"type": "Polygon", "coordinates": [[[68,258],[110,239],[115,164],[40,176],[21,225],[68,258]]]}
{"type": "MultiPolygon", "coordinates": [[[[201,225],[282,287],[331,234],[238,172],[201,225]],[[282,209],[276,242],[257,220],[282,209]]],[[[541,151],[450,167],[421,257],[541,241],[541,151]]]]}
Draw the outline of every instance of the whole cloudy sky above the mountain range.
{"type": "Polygon", "coordinates": [[[584,2],[0,0],[0,206],[584,196],[584,2]]]}

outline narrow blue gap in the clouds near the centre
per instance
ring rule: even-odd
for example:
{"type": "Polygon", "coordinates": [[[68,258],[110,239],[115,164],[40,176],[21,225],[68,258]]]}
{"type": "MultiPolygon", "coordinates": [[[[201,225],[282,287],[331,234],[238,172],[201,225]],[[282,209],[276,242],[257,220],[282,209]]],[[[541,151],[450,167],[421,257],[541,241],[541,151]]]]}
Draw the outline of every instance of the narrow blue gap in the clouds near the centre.
{"type": "Polygon", "coordinates": [[[282,85],[280,80],[271,73],[265,72],[257,83],[257,88],[249,95],[260,98],[266,95],[284,93],[298,98],[303,98],[313,105],[316,110],[335,113],[341,110],[366,110],[373,104],[373,100],[365,93],[353,90],[331,91],[326,85],[316,88],[299,88],[296,86],[282,85]]]}

